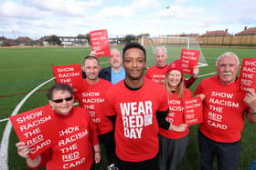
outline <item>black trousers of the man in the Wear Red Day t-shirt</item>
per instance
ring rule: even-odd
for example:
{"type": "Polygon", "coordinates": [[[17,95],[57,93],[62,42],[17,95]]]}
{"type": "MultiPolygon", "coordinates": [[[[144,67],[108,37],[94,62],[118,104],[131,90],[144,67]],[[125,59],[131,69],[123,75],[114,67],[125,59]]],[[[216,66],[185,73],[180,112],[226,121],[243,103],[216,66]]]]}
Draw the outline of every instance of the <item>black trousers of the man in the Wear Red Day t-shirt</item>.
{"type": "Polygon", "coordinates": [[[120,170],[158,170],[158,155],[152,159],[138,163],[126,162],[117,157],[117,167],[120,170]]]}

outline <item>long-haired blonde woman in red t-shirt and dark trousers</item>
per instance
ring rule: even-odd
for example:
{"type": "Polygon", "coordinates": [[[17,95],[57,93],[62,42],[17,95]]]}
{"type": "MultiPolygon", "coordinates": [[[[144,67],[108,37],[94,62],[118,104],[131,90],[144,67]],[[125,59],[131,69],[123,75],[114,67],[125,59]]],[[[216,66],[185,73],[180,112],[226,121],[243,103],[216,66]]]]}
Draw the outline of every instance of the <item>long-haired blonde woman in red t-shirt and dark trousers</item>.
{"type": "MultiPolygon", "coordinates": [[[[168,92],[169,114],[166,121],[173,127],[186,126],[183,132],[159,129],[159,167],[160,170],[176,170],[182,161],[188,145],[188,126],[184,124],[183,99],[192,97],[191,92],[184,85],[182,67],[176,60],[167,69],[165,88],[168,92]]],[[[173,128],[176,129],[176,128],[173,128]]]]}

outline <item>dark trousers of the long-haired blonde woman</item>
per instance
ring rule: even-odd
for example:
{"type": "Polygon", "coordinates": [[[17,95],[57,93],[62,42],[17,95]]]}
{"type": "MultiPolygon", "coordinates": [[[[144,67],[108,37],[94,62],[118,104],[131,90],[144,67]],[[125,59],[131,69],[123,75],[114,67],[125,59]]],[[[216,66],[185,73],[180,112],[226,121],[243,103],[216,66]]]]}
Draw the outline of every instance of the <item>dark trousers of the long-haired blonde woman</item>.
{"type": "Polygon", "coordinates": [[[160,170],[176,170],[186,153],[189,136],[178,139],[169,139],[159,136],[159,167],[160,170]]]}

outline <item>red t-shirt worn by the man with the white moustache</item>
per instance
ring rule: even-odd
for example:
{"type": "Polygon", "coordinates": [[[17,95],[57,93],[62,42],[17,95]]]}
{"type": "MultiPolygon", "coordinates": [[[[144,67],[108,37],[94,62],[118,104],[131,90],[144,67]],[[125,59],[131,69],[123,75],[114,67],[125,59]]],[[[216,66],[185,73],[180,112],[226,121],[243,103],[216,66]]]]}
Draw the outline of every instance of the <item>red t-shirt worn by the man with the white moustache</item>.
{"type": "Polygon", "coordinates": [[[197,87],[195,95],[206,95],[204,122],[199,125],[200,131],[208,138],[222,143],[233,143],[240,140],[244,124],[244,94],[240,91],[239,81],[230,85],[221,85],[218,76],[204,79],[197,87]]]}

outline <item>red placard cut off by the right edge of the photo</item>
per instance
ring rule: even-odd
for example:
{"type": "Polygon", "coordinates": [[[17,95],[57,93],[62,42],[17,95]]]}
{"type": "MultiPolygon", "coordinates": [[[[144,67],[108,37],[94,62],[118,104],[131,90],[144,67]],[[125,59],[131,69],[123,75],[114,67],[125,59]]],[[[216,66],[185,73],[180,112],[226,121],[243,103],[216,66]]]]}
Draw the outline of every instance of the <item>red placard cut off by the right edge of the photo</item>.
{"type": "Polygon", "coordinates": [[[246,91],[251,89],[256,93],[256,59],[243,58],[240,68],[240,89],[246,91]]]}

